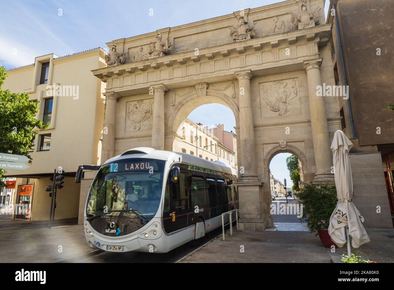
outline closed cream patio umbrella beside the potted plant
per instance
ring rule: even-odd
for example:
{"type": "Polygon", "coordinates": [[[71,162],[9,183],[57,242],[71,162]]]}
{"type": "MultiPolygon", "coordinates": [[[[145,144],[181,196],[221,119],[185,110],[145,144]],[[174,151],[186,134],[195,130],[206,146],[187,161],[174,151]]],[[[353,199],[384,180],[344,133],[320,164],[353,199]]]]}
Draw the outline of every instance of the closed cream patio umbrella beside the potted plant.
{"type": "MultiPolygon", "coordinates": [[[[352,237],[351,245],[358,248],[370,241],[362,223],[364,217],[351,202],[353,197],[353,179],[349,161],[349,150],[353,143],[346,135],[338,130],[335,132],[331,150],[333,151],[334,177],[338,204],[330,217],[328,227],[331,239],[342,247],[347,239],[346,233],[352,237]],[[348,228],[348,229],[347,229],[348,228]]],[[[350,245],[348,243],[348,256],[350,256],[350,245]]]]}

